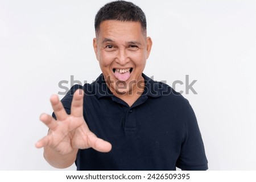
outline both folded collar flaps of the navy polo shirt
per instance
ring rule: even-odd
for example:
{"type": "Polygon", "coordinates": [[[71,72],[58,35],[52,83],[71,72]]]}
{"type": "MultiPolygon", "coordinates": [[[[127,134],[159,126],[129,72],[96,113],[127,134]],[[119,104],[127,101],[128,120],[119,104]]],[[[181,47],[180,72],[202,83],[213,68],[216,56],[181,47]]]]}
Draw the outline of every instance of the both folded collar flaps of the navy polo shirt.
{"type": "MultiPolygon", "coordinates": [[[[158,98],[162,95],[162,92],[159,89],[159,82],[153,81],[151,78],[147,77],[143,73],[142,77],[144,78],[145,81],[145,88],[142,96],[158,98]]],[[[103,74],[101,74],[92,84],[93,93],[96,95],[97,99],[113,96],[113,93],[109,90],[108,86],[106,85],[103,74]]]]}

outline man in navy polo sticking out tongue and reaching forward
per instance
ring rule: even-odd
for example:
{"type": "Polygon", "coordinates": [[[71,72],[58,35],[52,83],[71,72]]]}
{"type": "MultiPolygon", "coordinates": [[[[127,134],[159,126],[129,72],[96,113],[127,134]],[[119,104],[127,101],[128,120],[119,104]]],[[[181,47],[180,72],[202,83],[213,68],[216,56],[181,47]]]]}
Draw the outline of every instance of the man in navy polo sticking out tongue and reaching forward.
{"type": "Polygon", "coordinates": [[[115,1],[95,18],[93,47],[102,74],[75,85],[60,101],[51,96],[53,117],[40,120],[48,135],[36,143],[57,168],[77,170],[207,170],[195,114],[188,101],[142,72],[152,40],[144,12],[115,1]]]}

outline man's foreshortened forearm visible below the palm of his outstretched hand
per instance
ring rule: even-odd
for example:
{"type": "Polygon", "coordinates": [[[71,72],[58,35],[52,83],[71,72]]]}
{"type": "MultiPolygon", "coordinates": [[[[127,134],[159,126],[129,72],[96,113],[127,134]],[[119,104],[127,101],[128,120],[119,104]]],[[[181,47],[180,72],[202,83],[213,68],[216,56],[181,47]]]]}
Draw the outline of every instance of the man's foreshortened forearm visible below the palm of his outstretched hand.
{"type": "Polygon", "coordinates": [[[69,154],[62,155],[51,147],[46,146],[44,147],[44,158],[53,167],[67,168],[75,162],[77,151],[78,150],[73,150],[69,154]]]}

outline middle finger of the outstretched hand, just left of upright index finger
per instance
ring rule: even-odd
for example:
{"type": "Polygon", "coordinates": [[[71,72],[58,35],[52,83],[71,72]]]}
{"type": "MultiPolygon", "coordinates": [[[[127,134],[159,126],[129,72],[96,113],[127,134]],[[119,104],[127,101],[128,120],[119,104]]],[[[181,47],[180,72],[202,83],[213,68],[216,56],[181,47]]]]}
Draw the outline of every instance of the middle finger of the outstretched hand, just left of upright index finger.
{"type": "Polygon", "coordinates": [[[68,117],[68,115],[59,97],[57,95],[52,95],[50,98],[50,101],[51,101],[55,116],[57,117],[57,120],[60,120],[60,121],[65,120],[68,117]]]}

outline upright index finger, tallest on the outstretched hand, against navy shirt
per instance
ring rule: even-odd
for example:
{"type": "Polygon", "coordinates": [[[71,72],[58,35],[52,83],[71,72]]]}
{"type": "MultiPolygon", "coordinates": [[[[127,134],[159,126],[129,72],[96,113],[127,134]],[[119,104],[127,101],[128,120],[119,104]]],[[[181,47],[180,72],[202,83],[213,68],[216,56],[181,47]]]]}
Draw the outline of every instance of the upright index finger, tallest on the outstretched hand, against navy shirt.
{"type": "Polygon", "coordinates": [[[76,117],[82,116],[82,109],[84,107],[84,91],[77,89],[74,93],[71,104],[71,115],[76,117]]]}

